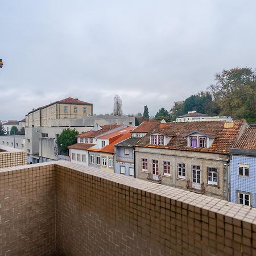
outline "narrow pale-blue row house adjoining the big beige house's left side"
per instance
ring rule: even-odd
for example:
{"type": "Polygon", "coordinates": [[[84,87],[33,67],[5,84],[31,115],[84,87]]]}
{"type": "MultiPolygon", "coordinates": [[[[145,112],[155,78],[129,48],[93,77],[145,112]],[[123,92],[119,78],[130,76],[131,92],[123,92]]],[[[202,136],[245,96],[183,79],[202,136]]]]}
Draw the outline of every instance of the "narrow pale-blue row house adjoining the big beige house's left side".
{"type": "Polygon", "coordinates": [[[131,131],[131,137],[115,144],[115,168],[117,174],[135,177],[134,172],[134,147],[139,140],[150,132],[159,121],[150,120],[142,122],[131,131]]]}

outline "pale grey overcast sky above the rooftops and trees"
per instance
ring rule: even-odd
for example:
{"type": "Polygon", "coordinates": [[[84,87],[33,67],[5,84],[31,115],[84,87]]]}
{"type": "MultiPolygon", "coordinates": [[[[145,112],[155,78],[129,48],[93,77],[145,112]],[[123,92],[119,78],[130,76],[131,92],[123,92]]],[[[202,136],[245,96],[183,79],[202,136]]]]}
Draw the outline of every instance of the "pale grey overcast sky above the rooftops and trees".
{"type": "Polygon", "coordinates": [[[0,120],[79,98],[150,115],[256,61],[256,1],[0,0],[0,120]]]}

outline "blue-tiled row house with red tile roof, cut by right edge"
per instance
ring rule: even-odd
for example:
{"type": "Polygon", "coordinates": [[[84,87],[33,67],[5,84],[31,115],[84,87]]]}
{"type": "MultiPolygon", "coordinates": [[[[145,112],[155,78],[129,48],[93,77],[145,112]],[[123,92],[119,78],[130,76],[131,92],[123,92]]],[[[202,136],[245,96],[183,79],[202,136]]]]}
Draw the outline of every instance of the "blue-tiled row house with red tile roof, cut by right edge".
{"type": "Polygon", "coordinates": [[[247,128],[230,152],[230,201],[255,207],[256,128],[247,128]]]}

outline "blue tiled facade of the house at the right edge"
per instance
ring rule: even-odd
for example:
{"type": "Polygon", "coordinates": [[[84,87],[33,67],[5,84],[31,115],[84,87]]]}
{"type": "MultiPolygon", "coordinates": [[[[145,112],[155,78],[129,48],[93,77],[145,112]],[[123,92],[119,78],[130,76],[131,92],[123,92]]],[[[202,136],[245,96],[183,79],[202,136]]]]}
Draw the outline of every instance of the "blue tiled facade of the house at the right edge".
{"type": "Polygon", "coordinates": [[[250,195],[250,205],[255,207],[256,158],[254,156],[232,155],[230,161],[230,201],[238,203],[238,192],[250,195]],[[249,165],[249,177],[238,174],[238,164],[249,165]]]}

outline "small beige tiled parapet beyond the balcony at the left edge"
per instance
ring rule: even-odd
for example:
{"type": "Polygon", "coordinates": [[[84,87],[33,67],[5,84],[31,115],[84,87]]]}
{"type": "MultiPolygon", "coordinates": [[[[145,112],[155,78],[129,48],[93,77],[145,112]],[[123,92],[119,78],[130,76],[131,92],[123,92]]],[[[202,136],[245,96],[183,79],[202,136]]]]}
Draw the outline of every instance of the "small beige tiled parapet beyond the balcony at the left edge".
{"type": "Polygon", "coordinates": [[[16,148],[0,146],[0,168],[27,164],[27,152],[16,148]]]}

